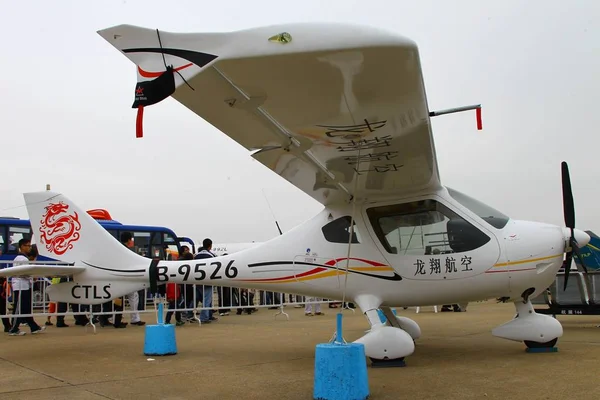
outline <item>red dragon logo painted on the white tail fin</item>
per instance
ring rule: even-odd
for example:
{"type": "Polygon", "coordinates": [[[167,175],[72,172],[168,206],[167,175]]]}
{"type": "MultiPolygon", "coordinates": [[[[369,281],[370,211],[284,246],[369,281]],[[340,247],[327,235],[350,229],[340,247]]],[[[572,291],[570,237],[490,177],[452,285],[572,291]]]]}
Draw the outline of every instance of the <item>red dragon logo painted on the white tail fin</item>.
{"type": "Polygon", "coordinates": [[[72,215],[67,213],[69,206],[62,201],[50,203],[40,223],[40,242],[46,244],[46,250],[56,255],[61,255],[73,248],[73,242],[81,236],[79,230],[81,223],[77,212],[72,215]]]}

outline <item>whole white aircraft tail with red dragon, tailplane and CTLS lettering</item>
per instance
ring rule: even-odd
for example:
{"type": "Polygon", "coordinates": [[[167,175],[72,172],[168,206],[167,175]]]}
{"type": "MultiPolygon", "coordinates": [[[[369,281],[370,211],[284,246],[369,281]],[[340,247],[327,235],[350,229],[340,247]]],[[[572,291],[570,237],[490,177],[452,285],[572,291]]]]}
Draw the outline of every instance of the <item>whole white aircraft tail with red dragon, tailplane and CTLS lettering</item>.
{"type": "Polygon", "coordinates": [[[39,254],[69,265],[17,265],[0,276],[69,276],[47,293],[51,301],[78,304],[102,303],[147,286],[140,277],[152,260],[123,246],[68,198],[50,191],[23,196],[39,254]]]}

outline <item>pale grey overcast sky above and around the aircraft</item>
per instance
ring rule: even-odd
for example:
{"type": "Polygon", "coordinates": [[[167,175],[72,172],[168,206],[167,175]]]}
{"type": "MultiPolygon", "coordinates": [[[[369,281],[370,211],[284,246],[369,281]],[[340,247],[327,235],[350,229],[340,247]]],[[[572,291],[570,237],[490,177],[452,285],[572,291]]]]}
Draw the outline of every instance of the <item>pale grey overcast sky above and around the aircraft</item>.
{"type": "Polygon", "coordinates": [[[342,21],[417,42],[442,183],[515,219],[563,225],[560,162],[577,226],[600,233],[600,3],[560,1],[0,0],[0,215],[27,218],[47,183],[84,209],[200,242],[264,241],[322,207],[169,98],[135,138],[135,67],[96,31],[174,32],[342,21]]]}

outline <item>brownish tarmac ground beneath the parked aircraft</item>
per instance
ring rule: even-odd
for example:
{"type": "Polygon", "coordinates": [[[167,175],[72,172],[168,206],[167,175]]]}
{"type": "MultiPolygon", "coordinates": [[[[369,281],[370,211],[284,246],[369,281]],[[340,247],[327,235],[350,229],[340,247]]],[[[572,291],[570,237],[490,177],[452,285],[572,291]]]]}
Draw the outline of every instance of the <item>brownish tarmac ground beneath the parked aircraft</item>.
{"type": "MultiPolygon", "coordinates": [[[[286,307],[177,327],[178,354],[143,354],[144,327],[73,325],[40,335],[0,337],[3,399],[312,399],[315,346],[335,331],[339,309],[304,316],[286,307]]],[[[369,367],[370,399],[599,399],[600,316],[558,316],[558,352],[529,354],[491,330],[514,316],[512,304],[473,303],[467,312],[398,309],[422,337],[403,368],[369,367]]],[[[155,323],[153,312],[143,314],[155,323]]],[[[126,317],[128,320],[128,317],[126,317]]],[[[38,323],[43,318],[37,319],[38,323]]],[[[344,311],[344,337],[369,329],[344,311]]],[[[27,327],[25,331],[29,332],[27,327]]]]}

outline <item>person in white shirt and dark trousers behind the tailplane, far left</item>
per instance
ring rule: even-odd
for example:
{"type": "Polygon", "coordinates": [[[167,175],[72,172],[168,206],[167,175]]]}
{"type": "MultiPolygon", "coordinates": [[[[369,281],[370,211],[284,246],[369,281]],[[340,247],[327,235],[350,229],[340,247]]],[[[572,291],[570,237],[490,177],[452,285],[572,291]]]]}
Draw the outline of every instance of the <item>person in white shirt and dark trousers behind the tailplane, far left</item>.
{"type": "MultiPolygon", "coordinates": [[[[29,239],[19,240],[19,255],[17,255],[13,262],[13,267],[17,265],[29,264],[29,258],[27,255],[31,250],[31,241],[29,239]]],[[[12,268],[12,267],[11,267],[12,268]]],[[[13,277],[11,279],[12,293],[13,293],[13,312],[17,315],[20,314],[33,314],[33,307],[31,306],[32,288],[31,278],[29,277],[13,277]]],[[[31,333],[40,333],[46,329],[45,326],[39,326],[33,317],[15,317],[13,320],[13,326],[8,332],[10,336],[23,336],[24,331],[19,329],[21,323],[26,323],[31,329],[31,333]]]]}

